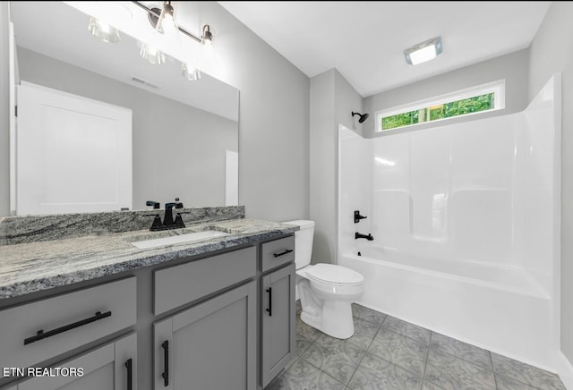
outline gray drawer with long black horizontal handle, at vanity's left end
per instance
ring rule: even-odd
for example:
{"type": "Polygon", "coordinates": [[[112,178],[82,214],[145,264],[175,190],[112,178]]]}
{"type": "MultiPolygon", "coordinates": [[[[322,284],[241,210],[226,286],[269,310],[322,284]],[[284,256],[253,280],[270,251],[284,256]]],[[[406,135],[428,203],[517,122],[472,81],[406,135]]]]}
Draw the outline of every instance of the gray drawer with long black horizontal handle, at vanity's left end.
{"type": "Polygon", "coordinates": [[[132,326],[136,306],[130,277],[2,310],[0,366],[30,367],[132,326]]]}

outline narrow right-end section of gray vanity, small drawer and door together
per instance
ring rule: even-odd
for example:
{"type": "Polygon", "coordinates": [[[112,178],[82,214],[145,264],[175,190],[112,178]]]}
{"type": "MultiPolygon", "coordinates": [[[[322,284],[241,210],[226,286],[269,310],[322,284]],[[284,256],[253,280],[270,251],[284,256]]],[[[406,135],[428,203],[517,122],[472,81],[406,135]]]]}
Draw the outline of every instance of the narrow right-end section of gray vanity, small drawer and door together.
{"type": "Polygon", "coordinates": [[[261,386],[295,357],[295,238],[261,244],[261,386]]]}

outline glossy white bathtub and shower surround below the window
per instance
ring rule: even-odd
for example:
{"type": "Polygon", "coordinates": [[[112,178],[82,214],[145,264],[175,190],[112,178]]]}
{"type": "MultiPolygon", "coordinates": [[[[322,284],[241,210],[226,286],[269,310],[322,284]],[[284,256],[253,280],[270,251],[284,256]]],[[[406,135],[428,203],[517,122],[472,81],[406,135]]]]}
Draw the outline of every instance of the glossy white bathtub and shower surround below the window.
{"type": "Polygon", "coordinates": [[[361,304],[556,370],[560,96],[557,74],[517,114],[372,139],[340,126],[338,264],[363,274],[361,304]]]}

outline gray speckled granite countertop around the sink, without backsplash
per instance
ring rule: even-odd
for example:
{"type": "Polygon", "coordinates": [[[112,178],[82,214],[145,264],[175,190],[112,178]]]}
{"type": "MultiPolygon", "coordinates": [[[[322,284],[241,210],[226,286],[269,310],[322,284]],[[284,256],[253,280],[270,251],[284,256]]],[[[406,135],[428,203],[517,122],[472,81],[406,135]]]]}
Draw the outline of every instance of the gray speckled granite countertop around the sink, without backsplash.
{"type": "Polygon", "coordinates": [[[298,226],[233,219],[163,232],[138,230],[0,246],[0,299],[294,233],[298,226]],[[226,236],[141,250],[131,242],[216,230],[226,236]]]}

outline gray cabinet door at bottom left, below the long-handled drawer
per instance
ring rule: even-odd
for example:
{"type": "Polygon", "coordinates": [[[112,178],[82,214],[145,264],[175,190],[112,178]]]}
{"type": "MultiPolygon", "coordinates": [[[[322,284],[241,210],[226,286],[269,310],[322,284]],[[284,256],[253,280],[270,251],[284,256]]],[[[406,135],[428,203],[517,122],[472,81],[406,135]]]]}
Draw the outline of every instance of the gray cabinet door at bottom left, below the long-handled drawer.
{"type": "Polygon", "coordinates": [[[60,376],[34,377],[14,390],[136,390],[137,336],[127,335],[56,368],[61,369],[60,376]],[[69,375],[71,369],[82,369],[82,375],[69,375]]]}

